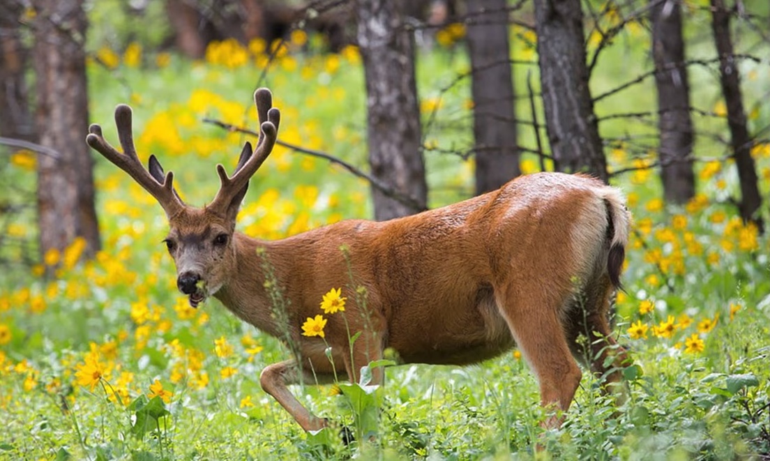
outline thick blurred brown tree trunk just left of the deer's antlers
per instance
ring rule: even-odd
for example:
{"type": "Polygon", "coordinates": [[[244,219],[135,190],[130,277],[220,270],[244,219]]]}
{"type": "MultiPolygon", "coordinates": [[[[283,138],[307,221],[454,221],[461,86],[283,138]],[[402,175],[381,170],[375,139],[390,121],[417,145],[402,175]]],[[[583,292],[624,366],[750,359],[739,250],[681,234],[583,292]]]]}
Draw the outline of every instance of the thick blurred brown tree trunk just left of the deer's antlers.
{"type": "Polygon", "coordinates": [[[35,0],[36,121],[40,144],[58,152],[40,155],[38,213],[40,251],[62,250],[75,237],[85,255],[99,249],[85,80],[85,12],[82,0],[35,0]]]}

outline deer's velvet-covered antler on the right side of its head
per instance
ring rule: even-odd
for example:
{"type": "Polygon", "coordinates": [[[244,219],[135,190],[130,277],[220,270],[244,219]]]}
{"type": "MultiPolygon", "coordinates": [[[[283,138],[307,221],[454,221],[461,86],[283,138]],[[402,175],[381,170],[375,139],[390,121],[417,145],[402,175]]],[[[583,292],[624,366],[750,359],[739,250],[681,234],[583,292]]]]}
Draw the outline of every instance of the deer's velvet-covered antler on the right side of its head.
{"type": "Polygon", "coordinates": [[[270,90],[266,88],[256,90],[254,103],[260,127],[256,151],[252,155],[251,143],[246,142],[233,176],[228,176],[225,167],[221,164],[216,165],[216,172],[219,174],[219,181],[222,182],[222,185],[219,186],[219,192],[216,193],[216,197],[207,208],[220,214],[226,212],[236,195],[249,184],[249,179],[267,159],[276,143],[281,114],[278,109],[273,107],[273,95],[270,90]]]}

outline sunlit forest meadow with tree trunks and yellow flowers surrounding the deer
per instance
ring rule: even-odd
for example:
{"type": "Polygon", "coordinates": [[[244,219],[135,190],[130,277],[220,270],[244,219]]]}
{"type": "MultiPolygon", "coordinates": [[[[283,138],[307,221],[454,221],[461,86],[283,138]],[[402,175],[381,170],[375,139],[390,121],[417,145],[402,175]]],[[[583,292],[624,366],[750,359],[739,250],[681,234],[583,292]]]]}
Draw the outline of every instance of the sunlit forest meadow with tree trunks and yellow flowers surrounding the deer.
{"type": "Polygon", "coordinates": [[[768,5],[12,0],[0,13],[0,456],[506,459],[537,443],[556,458],[770,456],[768,5]],[[367,45],[383,17],[390,45],[367,45]],[[585,373],[564,426],[544,431],[514,351],[389,367],[376,389],[295,389],[377,437],[303,433],[259,388],[288,349],[218,302],[190,308],[156,202],[85,146],[90,122],[116,139],[112,111],[129,103],[142,160],[157,155],[203,204],[214,165],[253,140],[260,86],[283,117],[239,215],[251,236],[389,219],[541,170],[621,187],[628,400],[585,373]]]}

